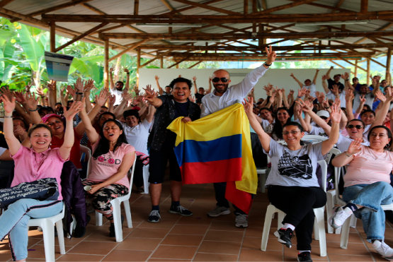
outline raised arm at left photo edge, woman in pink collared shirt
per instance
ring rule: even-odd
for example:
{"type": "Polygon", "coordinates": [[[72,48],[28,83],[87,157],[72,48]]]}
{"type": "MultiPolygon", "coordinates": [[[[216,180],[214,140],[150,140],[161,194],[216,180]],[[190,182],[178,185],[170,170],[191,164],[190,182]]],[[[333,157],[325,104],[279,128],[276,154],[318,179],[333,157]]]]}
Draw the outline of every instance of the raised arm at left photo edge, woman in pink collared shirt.
{"type": "Polygon", "coordinates": [[[6,95],[0,97],[1,102],[3,102],[4,106],[4,138],[6,138],[6,142],[8,145],[8,149],[11,155],[15,155],[19,148],[21,148],[21,142],[18,141],[18,138],[13,134],[13,121],[12,121],[12,112],[15,109],[15,98],[11,97],[11,100],[8,99],[6,95]]]}

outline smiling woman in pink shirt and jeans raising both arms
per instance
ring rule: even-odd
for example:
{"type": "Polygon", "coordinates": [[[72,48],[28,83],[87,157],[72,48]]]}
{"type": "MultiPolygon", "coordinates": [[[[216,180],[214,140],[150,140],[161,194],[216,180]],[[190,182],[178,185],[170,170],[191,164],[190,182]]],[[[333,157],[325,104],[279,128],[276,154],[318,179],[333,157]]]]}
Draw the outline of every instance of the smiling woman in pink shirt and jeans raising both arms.
{"type": "Polygon", "coordinates": [[[6,96],[2,96],[1,101],[4,102],[5,110],[4,136],[11,157],[15,161],[15,176],[11,186],[48,177],[55,178],[59,186],[57,201],[23,198],[9,205],[0,216],[0,241],[8,235],[13,260],[25,261],[28,256],[28,220],[47,218],[62,212],[60,175],[63,163],[69,159],[74,144],[72,119],[82,106],[81,102],[74,102],[68,111],[64,108],[67,129],[64,133],[64,143],[60,148],[50,148],[52,131],[45,124],[36,124],[28,131],[31,148],[26,148],[13,133],[12,112],[15,109],[15,99],[12,98],[10,101],[6,96]]]}

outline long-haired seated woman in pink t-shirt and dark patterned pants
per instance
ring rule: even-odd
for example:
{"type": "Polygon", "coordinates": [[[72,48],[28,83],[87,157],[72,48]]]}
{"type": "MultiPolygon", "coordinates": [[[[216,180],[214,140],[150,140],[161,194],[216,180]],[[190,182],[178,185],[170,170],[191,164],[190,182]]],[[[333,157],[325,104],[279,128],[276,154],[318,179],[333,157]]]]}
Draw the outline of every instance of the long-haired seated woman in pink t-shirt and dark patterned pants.
{"type": "Polygon", "coordinates": [[[105,121],[100,134],[91,125],[86,110],[81,111],[81,119],[85,122],[86,133],[93,149],[91,173],[83,184],[91,186],[87,193],[93,198],[92,206],[110,220],[109,236],[115,237],[113,207],[110,201],[127,195],[130,190],[127,172],[135,160],[135,148],[127,143],[123,126],[115,119],[105,121]]]}

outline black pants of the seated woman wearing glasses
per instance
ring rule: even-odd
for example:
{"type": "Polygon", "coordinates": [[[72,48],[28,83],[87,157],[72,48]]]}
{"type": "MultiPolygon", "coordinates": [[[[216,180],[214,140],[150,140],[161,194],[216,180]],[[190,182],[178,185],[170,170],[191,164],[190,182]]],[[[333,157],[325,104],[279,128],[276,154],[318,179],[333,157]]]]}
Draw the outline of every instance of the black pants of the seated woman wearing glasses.
{"type": "Polygon", "coordinates": [[[297,250],[311,250],[314,210],[326,204],[326,193],[319,187],[270,186],[270,203],[287,214],[283,224],[295,227],[297,250]]]}

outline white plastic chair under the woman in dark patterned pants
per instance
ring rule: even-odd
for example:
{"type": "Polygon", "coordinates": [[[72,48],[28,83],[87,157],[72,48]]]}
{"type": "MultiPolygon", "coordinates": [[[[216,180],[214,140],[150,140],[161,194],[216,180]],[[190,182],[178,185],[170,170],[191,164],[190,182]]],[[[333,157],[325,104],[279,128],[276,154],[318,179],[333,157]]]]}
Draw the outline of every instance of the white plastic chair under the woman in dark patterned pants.
{"type": "MultiPolygon", "coordinates": [[[[131,196],[131,189],[132,189],[132,180],[134,179],[134,171],[135,171],[135,162],[137,160],[137,155],[135,154],[134,164],[132,164],[132,171],[130,176],[130,190],[128,190],[127,195],[120,196],[118,198],[113,199],[110,203],[113,206],[113,220],[115,222],[115,234],[116,234],[116,242],[123,241],[123,229],[122,229],[122,222],[121,222],[121,208],[120,204],[123,202],[124,209],[125,209],[125,216],[127,218],[127,227],[132,228],[132,220],[131,220],[131,209],[130,209],[130,199],[131,196]]],[[[96,211],[96,225],[101,226],[103,225],[103,214],[98,213],[96,211]]]]}

